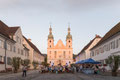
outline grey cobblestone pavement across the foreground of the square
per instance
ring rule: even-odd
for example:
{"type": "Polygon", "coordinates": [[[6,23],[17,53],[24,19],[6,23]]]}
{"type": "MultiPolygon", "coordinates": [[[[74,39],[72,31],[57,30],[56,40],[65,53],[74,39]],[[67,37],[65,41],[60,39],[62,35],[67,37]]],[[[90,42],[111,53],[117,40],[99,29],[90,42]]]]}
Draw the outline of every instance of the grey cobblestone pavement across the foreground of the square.
{"type": "Polygon", "coordinates": [[[82,73],[39,74],[38,71],[29,71],[27,77],[24,78],[21,74],[22,73],[3,75],[0,76],[0,80],[120,80],[120,77],[85,75],[82,73]]]}

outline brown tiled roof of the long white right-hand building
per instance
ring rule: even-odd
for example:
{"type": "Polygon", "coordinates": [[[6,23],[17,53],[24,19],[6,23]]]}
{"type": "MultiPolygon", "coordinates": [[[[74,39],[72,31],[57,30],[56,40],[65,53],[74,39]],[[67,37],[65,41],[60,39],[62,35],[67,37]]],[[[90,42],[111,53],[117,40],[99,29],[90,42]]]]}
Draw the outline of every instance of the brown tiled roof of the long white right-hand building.
{"type": "MultiPolygon", "coordinates": [[[[92,48],[94,49],[95,47],[97,47],[98,45],[102,44],[104,41],[106,41],[107,39],[109,39],[110,37],[112,37],[113,35],[117,34],[118,32],[120,32],[120,22],[115,25],[110,31],[108,31],[104,37],[92,48]]],[[[92,50],[91,49],[91,50],[92,50]]]]}

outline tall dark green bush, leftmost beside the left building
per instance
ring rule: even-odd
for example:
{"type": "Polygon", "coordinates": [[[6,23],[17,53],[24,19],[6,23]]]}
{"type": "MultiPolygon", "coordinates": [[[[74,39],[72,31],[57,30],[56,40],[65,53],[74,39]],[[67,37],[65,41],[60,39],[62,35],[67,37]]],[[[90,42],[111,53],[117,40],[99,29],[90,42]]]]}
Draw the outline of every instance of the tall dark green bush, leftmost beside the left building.
{"type": "Polygon", "coordinates": [[[13,66],[14,73],[18,72],[18,69],[20,68],[20,64],[21,64],[20,57],[13,57],[12,58],[12,66],[13,66]]]}

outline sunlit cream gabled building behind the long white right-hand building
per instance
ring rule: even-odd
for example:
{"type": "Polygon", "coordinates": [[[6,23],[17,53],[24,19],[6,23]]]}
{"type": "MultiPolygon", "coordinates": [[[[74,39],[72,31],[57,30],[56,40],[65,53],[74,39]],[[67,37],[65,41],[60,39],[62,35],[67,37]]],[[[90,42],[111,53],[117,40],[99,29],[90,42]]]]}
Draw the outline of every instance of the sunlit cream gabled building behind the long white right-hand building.
{"type": "Polygon", "coordinates": [[[91,40],[77,55],[76,62],[80,60],[85,60],[90,58],[90,49],[95,46],[99,41],[101,40],[101,37],[99,35],[96,35],[93,40],[91,40]]]}

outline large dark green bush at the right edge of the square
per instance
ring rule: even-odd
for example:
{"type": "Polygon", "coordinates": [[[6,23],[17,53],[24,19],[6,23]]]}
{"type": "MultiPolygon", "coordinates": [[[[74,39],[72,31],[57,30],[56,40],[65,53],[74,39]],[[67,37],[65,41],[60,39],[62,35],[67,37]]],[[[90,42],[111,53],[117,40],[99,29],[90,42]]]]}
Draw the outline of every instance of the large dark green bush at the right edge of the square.
{"type": "Polygon", "coordinates": [[[106,63],[110,66],[112,70],[112,76],[117,76],[117,71],[120,67],[120,56],[112,55],[106,59],[106,63]]]}

